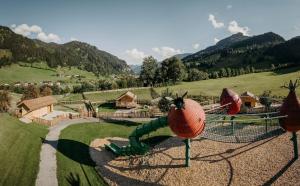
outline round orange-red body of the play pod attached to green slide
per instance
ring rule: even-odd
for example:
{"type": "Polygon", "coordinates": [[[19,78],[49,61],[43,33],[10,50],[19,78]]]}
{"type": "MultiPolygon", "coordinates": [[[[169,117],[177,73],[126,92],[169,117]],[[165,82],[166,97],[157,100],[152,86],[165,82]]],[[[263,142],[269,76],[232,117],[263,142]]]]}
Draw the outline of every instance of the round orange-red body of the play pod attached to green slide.
{"type": "Polygon", "coordinates": [[[194,138],[204,130],[205,113],[194,100],[184,99],[184,108],[172,107],[168,114],[171,130],[181,138],[194,138]]]}

